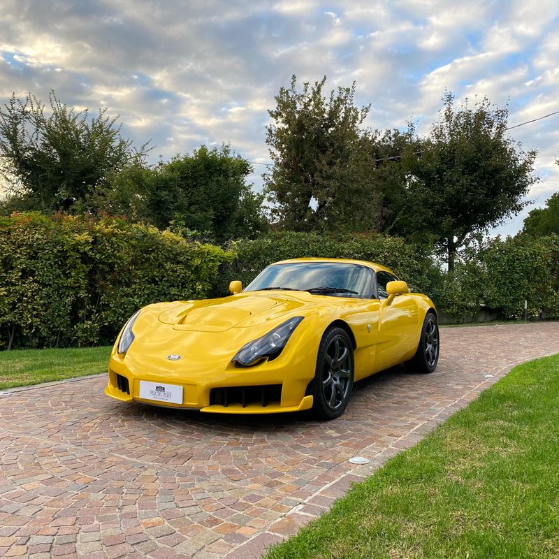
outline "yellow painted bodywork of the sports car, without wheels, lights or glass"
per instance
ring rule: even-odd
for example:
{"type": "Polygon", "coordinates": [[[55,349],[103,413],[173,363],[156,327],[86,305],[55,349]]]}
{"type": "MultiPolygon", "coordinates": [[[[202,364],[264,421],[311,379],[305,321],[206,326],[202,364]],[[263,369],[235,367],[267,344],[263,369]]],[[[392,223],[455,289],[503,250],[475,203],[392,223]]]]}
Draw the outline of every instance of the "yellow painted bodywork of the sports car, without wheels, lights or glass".
{"type": "MultiPolygon", "coordinates": [[[[281,263],[317,261],[355,263],[375,272],[391,273],[375,263],[346,259],[292,259],[281,263]]],[[[307,386],[314,378],[321,337],[329,326],[337,324],[350,334],[354,344],[354,377],[359,380],[412,358],[429,310],[435,310],[433,301],[419,293],[379,299],[276,290],[148,305],[133,324],[134,339],[129,349],[118,353],[124,328],[112,348],[105,393],[121,402],[210,413],[310,409],[312,395],[307,394],[307,386]],[[279,356],[247,367],[231,361],[245,344],[268,334],[291,317],[303,320],[279,356]],[[170,360],[173,356],[179,357],[170,360]],[[182,401],[142,398],[140,382],[180,386],[182,401]],[[281,395],[278,392],[275,399],[264,405],[220,405],[211,399],[212,389],[255,386],[279,386],[281,395]]]]}

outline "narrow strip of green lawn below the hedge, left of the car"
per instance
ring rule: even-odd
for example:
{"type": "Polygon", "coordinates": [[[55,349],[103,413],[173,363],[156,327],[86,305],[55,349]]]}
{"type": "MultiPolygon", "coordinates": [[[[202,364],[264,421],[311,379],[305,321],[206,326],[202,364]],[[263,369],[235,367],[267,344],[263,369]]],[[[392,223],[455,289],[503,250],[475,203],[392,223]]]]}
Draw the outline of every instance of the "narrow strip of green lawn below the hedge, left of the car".
{"type": "Polygon", "coordinates": [[[110,346],[0,351],[0,390],[106,372],[110,346]]]}

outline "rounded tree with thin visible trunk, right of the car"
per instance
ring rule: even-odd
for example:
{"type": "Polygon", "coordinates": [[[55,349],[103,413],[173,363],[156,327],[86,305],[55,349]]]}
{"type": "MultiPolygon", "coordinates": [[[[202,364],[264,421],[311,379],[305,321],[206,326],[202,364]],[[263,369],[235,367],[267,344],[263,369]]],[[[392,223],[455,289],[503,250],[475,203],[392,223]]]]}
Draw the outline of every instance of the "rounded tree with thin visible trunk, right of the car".
{"type": "Polygon", "coordinates": [[[523,196],[537,181],[536,152],[523,152],[507,136],[507,108],[483,99],[455,109],[450,93],[443,101],[422,153],[402,158],[407,211],[397,225],[398,232],[437,242],[453,270],[468,235],[502,223],[527,204],[523,196]]]}

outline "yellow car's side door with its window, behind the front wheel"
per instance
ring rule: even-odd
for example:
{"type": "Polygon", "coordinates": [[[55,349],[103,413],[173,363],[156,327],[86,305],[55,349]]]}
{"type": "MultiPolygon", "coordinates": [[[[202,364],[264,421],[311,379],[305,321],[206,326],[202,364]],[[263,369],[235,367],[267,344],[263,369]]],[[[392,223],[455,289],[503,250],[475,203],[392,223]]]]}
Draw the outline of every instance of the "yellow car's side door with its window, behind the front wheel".
{"type": "Polygon", "coordinates": [[[402,293],[389,300],[386,293],[386,284],[396,279],[398,278],[388,272],[377,272],[380,305],[376,371],[401,363],[417,344],[419,307],[414,296],[402,293]]]}

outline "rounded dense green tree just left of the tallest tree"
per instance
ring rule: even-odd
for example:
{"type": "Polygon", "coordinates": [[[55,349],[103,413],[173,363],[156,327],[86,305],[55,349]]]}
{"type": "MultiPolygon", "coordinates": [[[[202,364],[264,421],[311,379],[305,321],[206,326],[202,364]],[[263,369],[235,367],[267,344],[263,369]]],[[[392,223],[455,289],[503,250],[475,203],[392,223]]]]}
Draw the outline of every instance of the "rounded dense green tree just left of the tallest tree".
{"type": "Polygon", "coordinates": [[[208,231],[215,240],[252,236],[266,228],[261,203],[246,183],[252,166],[228,145],[177,155],[153,170],[146,200],[150,221],[208,231]]]}

